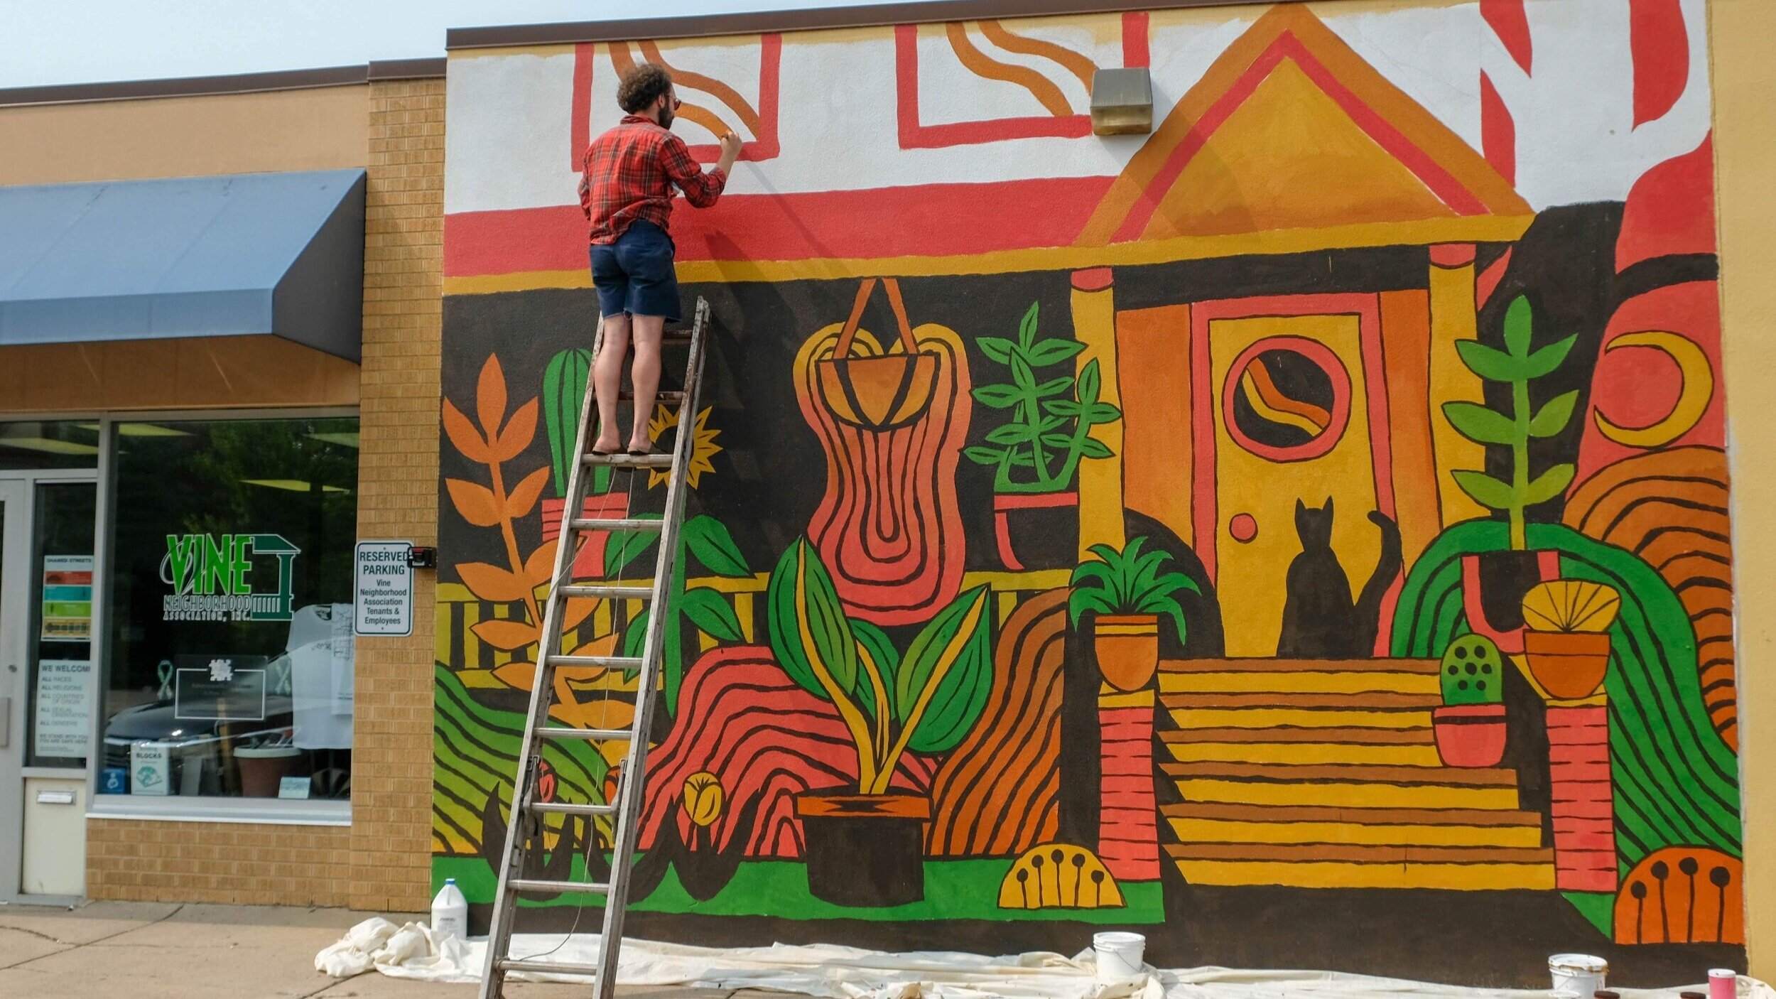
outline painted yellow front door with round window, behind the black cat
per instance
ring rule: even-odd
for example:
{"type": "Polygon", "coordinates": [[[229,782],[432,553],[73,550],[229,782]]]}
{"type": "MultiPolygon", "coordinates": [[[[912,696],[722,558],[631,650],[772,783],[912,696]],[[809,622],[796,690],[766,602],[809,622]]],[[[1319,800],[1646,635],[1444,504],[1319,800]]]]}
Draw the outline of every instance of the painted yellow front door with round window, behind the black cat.
{"type": "Polygon", "coordinates": [[[1332,500],[1330,547],[1352,597],[1380,551],[1362,316],[1211,318],[1208,361],[1227,654],[1275,656],[1289,562],[1302,553],[1296,503],[1318,510],[1332,500]]]}

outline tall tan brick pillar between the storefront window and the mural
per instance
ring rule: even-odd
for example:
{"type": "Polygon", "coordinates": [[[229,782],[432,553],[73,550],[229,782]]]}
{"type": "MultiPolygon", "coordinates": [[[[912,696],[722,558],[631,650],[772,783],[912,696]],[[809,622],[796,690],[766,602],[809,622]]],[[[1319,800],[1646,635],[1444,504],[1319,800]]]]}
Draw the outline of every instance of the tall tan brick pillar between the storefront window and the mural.
{"type": "MultiPolygon", "coordinates": [[[[357,533],[437,544],[444,293],[444,80],[369,89],[357,533]]],[[[361,638],[352,748],[352,908],[432,901],[433,581],[412,638],[361,638]],[[369,807],[364,807],[369,805],[369,807]]]]}

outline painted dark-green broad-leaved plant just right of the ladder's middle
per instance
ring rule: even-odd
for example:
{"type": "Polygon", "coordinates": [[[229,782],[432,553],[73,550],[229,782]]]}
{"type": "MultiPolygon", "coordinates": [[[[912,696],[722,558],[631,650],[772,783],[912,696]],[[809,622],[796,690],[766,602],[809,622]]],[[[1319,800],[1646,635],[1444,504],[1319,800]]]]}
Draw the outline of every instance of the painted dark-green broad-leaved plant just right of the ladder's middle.
{"type": "MultiPolygon", "coordinates": [[[[659,514],[636,514],[636,519],[657,521],[659,514]]],[[[618,579],[623,571],[654,549],[659,531],[611,531],[604,542],[604,578],[618,579]]],[[[726,579],[744,579],[753,574],[746,567],[746,556],[733,544],[728,528],[700,514],[678,528],[678,555],[673,558],[671,597],[666,601],[666,651],[661,663],[661,684],[666,691],[666,711],[678,713],[678,686],[684,683],[684,649],[680,642],[680,622],[689,619],[698,631],[716,642],[744,642],[741,619],[728,601],[712,587],[689,587],[687,556],[696,558],[709,572],[726,579]]],[[[648,633],[648,617],[654,608],[643,608],[629,619],[623,627],[623,656],[639,656],[648,633]]]]}

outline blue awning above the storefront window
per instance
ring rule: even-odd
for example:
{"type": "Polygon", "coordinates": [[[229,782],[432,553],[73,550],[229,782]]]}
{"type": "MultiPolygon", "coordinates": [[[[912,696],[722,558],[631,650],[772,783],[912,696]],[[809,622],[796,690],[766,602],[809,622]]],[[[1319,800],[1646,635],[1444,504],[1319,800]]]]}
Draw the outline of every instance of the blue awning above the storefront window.
{"type": "Polygon", "coordinates": [[[0,347],[275,334],[357,361],[364,171],[0,187],[0,347]]]}

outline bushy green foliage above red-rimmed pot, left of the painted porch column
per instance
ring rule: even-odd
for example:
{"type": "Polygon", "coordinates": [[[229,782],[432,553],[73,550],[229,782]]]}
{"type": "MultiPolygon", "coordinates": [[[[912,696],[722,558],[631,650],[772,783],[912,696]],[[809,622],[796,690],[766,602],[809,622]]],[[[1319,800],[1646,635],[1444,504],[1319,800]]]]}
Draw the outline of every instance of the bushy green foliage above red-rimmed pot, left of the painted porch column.
{"type": "Polygon", "coordinates": [[[1098,361],[1078,377],[1039,379],[1041,368],[1071,361],[1085,345],[1076,340],[1037,340],[1039,302],[1030,302],[1018,324],[1018,340],[982,336],[989,359],[1011,368],[1011,382],[975,388],[975,402],[1009,409],[1011,420],[987,432],[987,443],[966,448],[970,460],[995,468],[995,492],[1060,492],[1073,482],[1080,459],[1108,459],[1110,448],[1092,439],[1092,427],[1115,423],[1122,411],[1099,402],[1098,361]]]}

